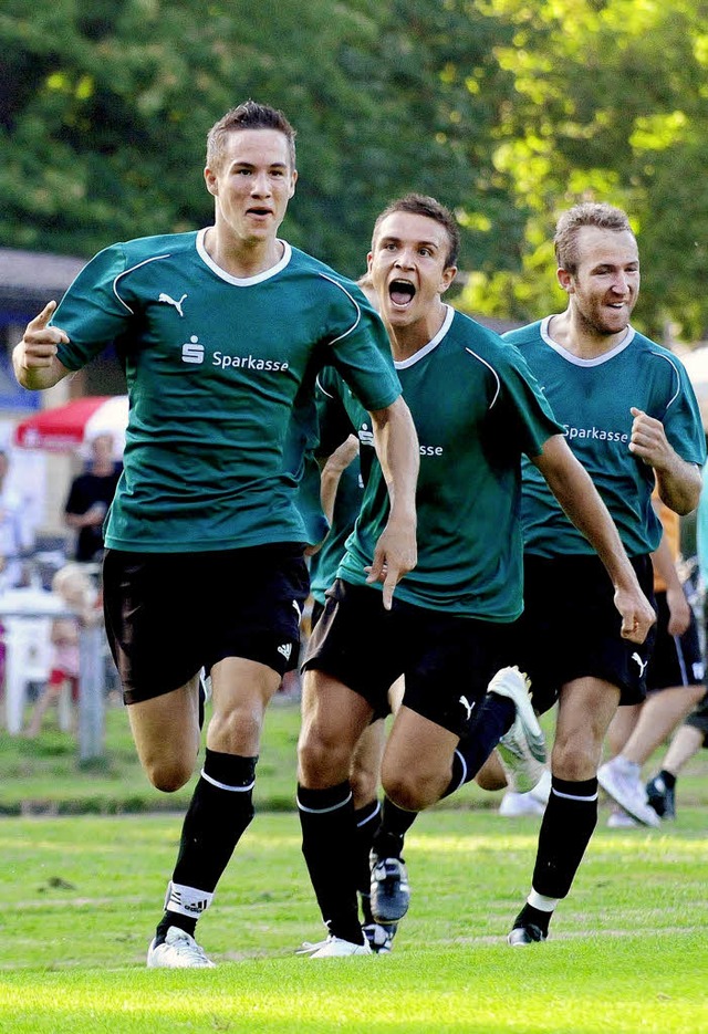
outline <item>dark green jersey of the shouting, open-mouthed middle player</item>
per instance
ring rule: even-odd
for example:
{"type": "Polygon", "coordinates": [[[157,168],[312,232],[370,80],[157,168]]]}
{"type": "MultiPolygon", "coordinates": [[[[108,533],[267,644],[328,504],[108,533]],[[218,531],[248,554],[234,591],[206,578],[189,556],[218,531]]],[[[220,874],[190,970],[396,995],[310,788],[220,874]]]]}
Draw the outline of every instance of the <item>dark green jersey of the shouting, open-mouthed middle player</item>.
{"type": "MultiPolygon", "coordinates": [[[[521,455],[538,456],[561,428],[517,349],[450,306],[434,340],[396,369],[420,443],[418,563],[396,598],[511,622],[522,610],[521,455]]],[[[371,421],[346,396],[364,466],[371,421]]],[[[377,462],[365,483],[337,572],[360,585],[388,516],[377,462]]]]}

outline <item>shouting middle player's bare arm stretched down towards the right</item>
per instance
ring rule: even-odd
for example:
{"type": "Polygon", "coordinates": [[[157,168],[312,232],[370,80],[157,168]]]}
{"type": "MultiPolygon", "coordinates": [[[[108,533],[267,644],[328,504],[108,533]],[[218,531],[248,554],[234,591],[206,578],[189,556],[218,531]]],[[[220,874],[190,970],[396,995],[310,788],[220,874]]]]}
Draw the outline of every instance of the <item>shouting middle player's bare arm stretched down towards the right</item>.
{"type": "Polygon", "coordinates": [[[656,615],[629,563],[610,511],[590,474],[562,435],[546,439],[539,456],[531,457],[575,528],[585,535],[605,565],[615,587],[615,606],[622,616],[622,636],[644,643],[656,615]]]}

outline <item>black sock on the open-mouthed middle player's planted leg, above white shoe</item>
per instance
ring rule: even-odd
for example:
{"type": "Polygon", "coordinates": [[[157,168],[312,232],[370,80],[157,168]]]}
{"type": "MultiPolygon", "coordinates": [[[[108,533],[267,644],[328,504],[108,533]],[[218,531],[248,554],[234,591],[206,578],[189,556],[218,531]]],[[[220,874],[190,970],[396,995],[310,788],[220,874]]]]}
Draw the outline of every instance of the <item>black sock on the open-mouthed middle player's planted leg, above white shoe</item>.
{"type": "Polygon", "coordinates": [[[362,944],[356,888],[358,853],[352,788],[298,785],[302,854],[322,918],[334,937],[362,944]]]}

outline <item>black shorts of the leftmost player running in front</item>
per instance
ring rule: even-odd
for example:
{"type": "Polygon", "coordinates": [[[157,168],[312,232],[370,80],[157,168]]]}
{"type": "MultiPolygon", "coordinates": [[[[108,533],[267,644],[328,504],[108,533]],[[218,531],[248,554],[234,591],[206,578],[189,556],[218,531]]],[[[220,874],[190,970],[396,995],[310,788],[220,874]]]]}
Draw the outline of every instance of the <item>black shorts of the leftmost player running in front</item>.
{"type": "Polygon", "coordinates": [[[125,702],[170,692],[225,657],[282,676],[300,647],[309,593],[302,552],[293,543],[207,553],[107,550],[106,635],[125,702]]]}

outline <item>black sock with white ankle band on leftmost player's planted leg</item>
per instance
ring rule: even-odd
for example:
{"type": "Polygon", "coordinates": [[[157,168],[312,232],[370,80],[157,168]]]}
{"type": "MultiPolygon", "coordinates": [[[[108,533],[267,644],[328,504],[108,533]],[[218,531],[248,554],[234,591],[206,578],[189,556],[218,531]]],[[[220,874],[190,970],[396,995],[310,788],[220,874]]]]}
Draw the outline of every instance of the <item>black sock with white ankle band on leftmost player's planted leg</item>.
{"type": "MultiPolygon", "coordinates": [[[[258,758],[222,754],[207,748],[201,776],[183,824],[173,884],[214,894],[236,845],[253,817],[257,761],[258,758]]],[[[198,905],[192,908],[196,915],[189,916],[173,908],[165,909],[157,928],[158,943],[170,926],[194,936],[202,908],[198,905]]]]}

